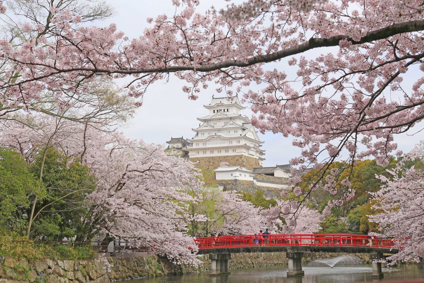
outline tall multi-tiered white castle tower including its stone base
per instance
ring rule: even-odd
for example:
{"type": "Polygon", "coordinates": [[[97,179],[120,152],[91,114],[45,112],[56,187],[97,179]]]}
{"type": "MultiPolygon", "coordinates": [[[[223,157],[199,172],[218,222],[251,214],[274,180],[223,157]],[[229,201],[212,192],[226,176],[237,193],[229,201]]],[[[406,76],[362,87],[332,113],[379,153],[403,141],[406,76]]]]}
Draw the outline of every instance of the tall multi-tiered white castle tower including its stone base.
{"type": "Polygon", "coordinates": [[[241,114],[245,107],[239,98],[212,98],[204,107],[209,115],[198,118],[201,123],[192,129],[195,136],[188,139],[191,144],[186,149],[189,160],[199,161],[199,168],[211,170],[222,161],[249,170],[262,166],[265,150],[260,147],[264,142],[259,140],[249,118],[241,114]]]}

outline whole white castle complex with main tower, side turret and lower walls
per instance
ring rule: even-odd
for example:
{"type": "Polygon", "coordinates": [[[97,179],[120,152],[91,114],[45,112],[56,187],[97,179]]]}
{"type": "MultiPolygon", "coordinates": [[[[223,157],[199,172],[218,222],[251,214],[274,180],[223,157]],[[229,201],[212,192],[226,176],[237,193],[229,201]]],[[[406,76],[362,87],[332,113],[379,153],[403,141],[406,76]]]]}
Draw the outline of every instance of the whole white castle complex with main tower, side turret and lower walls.
{"type": "Polygon", "coordinates": [[[244,180],[251,182],[253,189],[290,188],[287,179],[291,177],[292,168],[289,164],[262,167],[264,142],[259,140],[249,118],[241,114],[245,107],[237,96],[212,96],[212,101],[204,107],[209,115],[197,118],[201,123],[192,129],[193,138],[171,137],[167,141],[171,153],[198,162],[198,168],[213,170],[218,185],[244,180]],[[220,167],[222,161],[229,166],[220,167]]]}

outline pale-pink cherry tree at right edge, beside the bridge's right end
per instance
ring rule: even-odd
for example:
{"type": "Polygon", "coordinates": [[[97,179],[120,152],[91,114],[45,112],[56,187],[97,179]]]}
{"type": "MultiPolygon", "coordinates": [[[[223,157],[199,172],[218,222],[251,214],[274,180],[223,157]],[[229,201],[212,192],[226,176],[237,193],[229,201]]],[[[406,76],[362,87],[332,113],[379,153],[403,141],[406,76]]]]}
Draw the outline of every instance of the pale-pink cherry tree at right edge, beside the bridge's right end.
{"type": "Polygon", "coordinates": [[[424,256],[424,172],[412,166],[405,166],[410,160],[424,157],[424,142],[415,148],[397,164],[388,170],[391,177],[377,176],[385,184],[381,190],[372,193],[377,202],[373,208],[379,212],[368,216],[370,221],[379,225],[380,237],[393,237],[395,248],[399,252],[388,258],[389,264],[401,260],[415,260],[424,256]]]}

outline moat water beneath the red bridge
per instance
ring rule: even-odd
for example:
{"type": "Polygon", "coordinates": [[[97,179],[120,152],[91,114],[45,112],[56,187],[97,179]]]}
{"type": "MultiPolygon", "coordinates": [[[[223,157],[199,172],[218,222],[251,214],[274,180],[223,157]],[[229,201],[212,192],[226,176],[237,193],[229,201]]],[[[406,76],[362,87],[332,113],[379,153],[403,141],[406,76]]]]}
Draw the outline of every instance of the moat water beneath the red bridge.
{"type": "Polygon", "coordinates": [[[164,277],[124,280],[121,283],[339,283],[384,282],[387,280],[410,280],[424,278],[424,265],[398,264],[383,268],[384,278],[371,278],[371,264],[335,265],[307,263],[303,277],[287,278],[287,265],[231,270],[231,275],[209,277],[209,272],[164,277]]]}

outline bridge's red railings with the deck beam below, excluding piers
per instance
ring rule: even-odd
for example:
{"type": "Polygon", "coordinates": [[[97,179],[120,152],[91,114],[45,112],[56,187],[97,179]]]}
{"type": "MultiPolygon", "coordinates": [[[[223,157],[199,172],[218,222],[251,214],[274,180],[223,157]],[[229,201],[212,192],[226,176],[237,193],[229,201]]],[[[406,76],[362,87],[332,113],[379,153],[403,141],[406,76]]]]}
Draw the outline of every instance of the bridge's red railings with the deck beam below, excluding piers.
{"type": "Polygon", "coordinates": [[[396,253],[396,241],[370,238],[367,235],[346,234],[296,234],[234,235],[197,238],[199,254],[245,252],[348,252],[348,253],[396,253]]]}

